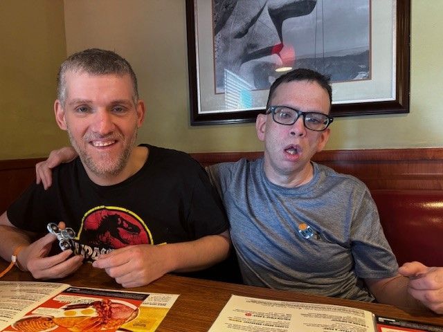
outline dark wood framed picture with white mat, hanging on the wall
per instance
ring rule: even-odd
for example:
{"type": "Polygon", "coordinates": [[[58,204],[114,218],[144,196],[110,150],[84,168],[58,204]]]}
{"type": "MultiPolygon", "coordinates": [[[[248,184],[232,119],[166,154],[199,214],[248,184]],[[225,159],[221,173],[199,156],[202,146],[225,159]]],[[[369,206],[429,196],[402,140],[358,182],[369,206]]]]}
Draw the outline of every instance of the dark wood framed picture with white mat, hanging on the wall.
{"type": "Polygon", "coordinates": [[[409,112],[410,0],[186,0],[191,125],[253,122],[291,68],[332,116],[409,112]]]}

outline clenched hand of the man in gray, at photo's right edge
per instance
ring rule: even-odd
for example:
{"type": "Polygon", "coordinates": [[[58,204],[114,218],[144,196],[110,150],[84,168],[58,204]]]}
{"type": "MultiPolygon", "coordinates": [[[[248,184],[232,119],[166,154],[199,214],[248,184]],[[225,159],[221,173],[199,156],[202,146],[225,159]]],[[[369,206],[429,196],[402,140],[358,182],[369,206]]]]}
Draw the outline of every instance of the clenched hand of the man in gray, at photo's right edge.
{"type": "Polygon", "coordinates": [[[413,261],[399,268],[409,278],[408,293],[435,313],[443,314],[443,268],[428,268],[413,261]]]}

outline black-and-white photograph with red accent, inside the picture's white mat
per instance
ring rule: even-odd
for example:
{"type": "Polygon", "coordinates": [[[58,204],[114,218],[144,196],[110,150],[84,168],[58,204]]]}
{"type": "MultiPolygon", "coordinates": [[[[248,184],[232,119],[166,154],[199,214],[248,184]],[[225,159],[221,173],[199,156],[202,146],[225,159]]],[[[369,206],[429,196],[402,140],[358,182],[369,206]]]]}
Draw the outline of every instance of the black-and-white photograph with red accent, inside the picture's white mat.
{"type": "MultiPolygon", "coordinates": [[[[364,80],[370,0],[213,0],[213,40],[216,93],[229,93],[235,80],[269,89],[291,68],[311,68],[331,82],[364,80]]],[[[248,98],[237,107],[251,107],[248,98]]]]}

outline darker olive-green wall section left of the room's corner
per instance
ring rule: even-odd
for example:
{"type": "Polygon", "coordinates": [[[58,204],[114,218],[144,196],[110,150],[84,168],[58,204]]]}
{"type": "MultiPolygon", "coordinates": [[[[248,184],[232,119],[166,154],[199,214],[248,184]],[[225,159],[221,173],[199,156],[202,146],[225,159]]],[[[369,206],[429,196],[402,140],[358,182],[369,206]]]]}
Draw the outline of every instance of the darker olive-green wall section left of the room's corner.
{"type": "Polygon", "coordinates": [[[63,1],[0,1],[0,160],[45,156],[68,142],[53,116],[63,17],[63,1]]]}

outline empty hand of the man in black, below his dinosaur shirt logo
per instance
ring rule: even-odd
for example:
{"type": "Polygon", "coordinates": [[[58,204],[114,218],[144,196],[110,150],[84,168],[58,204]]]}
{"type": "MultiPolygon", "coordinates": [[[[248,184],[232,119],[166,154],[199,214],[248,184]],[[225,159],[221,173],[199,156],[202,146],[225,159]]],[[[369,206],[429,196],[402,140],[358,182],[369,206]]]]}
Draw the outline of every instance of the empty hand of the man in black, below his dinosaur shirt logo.
{"type": "Polygon", "coordinates": [[[92,266],[105,269],[123,287],[143,286],[172,270],[172,262],[162,247],[150,244],[127,246],[100,255],[92,266]]]}

